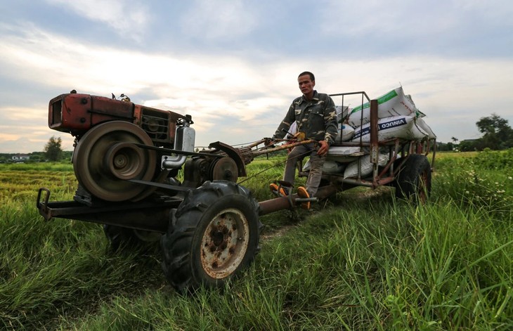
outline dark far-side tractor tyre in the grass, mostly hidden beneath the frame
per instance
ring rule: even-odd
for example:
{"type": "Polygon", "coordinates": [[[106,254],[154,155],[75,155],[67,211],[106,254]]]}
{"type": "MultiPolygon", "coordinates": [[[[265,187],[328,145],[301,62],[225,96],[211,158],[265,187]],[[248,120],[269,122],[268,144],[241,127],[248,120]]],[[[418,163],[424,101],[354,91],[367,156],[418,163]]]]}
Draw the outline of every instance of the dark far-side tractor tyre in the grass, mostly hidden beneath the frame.
{"type": "Polygon", "coordinates": [[[161,233],[157,232],[112,226],[110,224],[103,224],[103,233],[109,240],[110,248],[113,251],[117,251],[122,245],[133,247],[145,242],[157,242],[162,236],[161,233]]]}

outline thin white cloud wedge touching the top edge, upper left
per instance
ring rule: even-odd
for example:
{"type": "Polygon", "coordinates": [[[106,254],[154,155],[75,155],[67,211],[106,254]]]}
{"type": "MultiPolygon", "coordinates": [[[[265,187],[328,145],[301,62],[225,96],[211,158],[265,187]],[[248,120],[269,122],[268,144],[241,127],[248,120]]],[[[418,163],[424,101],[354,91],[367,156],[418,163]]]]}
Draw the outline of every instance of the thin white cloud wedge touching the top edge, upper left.
{"type": "Polygon", "coordinates": [[[123,37],[140,40],[150,22],[150,11],[143,1],[135,0],[46,0],[48,4],[67,8],[75,15],[100,22],[123,37]]]}

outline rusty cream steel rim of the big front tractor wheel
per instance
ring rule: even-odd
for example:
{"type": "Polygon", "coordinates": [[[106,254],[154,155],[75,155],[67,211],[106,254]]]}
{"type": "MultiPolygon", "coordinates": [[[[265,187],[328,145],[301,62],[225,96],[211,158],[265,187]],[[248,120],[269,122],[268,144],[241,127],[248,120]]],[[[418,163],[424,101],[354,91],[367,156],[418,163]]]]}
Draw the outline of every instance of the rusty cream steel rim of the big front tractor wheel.
{"type": "Polygon", "coordinates": [[[223,209],[214,216],[201,241],[201,264],[214,279],[226,278],[240,266],[249,245],[249,225],[238,209],[223,209]]]}

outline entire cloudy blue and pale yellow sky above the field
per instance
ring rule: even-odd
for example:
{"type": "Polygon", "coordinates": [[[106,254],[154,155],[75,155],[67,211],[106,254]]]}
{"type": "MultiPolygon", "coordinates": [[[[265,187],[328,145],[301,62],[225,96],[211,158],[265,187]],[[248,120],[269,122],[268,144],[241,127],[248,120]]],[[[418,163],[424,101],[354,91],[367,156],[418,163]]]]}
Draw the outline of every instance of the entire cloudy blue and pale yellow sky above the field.
{"type": "Polygon", "coordinates": [[[305,70],[321,93],[403,86],[437,141],[479,138],[493,113],[513,126],[509,0],[4,0],[0,12],[3,153],[51,136],[72,150],[48,129],[48,101],[72,89],[191,115],[196,146],[251,143],[273,135],[305,70]]]}

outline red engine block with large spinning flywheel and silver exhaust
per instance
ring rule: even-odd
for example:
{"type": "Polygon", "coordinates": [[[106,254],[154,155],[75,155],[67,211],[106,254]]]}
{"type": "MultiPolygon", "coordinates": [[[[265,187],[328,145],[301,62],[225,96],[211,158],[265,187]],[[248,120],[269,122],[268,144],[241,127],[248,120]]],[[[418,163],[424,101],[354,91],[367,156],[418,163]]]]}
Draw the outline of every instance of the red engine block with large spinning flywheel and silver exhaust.
{"type": "Polygon", "coordinates": [[[190,124],[189,115],[88,94],[61,94],[48,105],[48,126],[75,137],[74,200],[86,205],[150,195],[156,187],[141,183],[163,183],[193,152],[190,124]]]}

